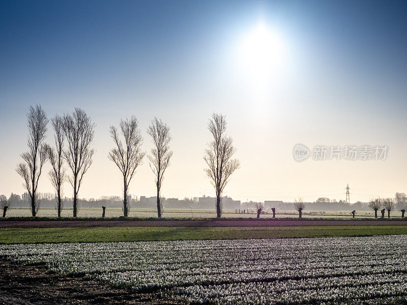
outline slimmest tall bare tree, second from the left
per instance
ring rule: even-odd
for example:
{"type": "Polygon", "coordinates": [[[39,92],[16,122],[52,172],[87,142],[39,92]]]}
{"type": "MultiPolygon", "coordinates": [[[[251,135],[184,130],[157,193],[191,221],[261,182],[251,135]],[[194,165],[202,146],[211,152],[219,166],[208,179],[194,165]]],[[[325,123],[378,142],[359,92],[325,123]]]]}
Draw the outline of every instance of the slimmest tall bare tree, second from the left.
{"type": "Polygon", "coordinates": [[[55,115],[55,117],[51,119],[51,123],[54,130],[55,149],[47,145],[47,158],[52,166],[48,176],[56,192],[57,201],[55,205],[58,217],[61,217],[61,210],[64,207],[62,186],[66,181],[66,169],[64,168],[65,132],[61,116],[55,115]]]}

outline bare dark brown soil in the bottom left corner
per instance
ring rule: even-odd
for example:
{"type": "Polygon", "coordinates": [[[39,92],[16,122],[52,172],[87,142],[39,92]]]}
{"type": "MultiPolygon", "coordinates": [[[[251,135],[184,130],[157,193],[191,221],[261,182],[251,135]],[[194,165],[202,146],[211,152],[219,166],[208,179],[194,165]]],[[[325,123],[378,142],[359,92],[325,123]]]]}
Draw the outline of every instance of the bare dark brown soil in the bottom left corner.
{"type": "Polygon", "coordinates": [[[112,288],[83,277],[62,276],[46,266],[0,260],[0,304],[184,304],[159,294],[112,288]]]}

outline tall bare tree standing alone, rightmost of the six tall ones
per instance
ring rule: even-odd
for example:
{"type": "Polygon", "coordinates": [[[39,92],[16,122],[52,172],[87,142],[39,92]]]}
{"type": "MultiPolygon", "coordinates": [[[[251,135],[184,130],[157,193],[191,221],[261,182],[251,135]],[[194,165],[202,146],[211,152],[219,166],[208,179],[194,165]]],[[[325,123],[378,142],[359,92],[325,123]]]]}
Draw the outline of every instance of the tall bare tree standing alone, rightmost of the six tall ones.
{"type": "Polygon", "coordinates": [[[208,123],[208,129],[213,136],[213,141],[208,143],[203,159],[208,165],[205,172],[215,188],[216,214],[220,218],[222,215],[222,192],[230,175],[240,167],[240,162],[238,159],[232,159],[236,148],[233,146],[232,138],[226,136],[225,116],[213,113],[208,123]]]}

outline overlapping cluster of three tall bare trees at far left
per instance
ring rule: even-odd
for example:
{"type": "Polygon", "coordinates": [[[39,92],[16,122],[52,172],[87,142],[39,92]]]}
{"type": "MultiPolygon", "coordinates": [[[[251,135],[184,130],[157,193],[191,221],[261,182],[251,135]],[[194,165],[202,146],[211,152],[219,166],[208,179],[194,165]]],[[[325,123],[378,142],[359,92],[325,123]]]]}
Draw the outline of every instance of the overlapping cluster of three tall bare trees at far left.
{"type": "Polygon", "coordinates": [[[68,180],[73,187],[73,216],[77,216],[78,193],[84,174],[92,165],[95,153],[91,144],[95,134],[95,124],[92,119],[80,108],[73,113],[63,116],[55,115],[51,122],[54,131],[54,144],[51,147],[45,143],[48,118],[40,105],[30,106],[27,113],[28,151],[21,154],[24,162],[17,165],[17,173],[24,179],[24,188],[31,199],[32,216],[37,215],[40,202],[37,196],[38,181],[44,164],[51,163],[48,173],[57,197],[58,217],[61,217],[63,208],[63,184],[68,180]],[[64,144],[67,147],[64,149],[64,144]],[[71,174],[66,173],[64,163],[67,163],[71,174]]]}

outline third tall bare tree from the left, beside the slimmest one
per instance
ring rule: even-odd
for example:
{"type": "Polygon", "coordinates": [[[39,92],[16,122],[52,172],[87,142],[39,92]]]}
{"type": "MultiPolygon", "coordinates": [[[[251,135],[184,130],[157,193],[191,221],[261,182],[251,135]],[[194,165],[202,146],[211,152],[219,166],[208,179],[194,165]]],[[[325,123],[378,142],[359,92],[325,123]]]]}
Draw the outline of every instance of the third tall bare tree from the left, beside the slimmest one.
{"type": "Polygon", "coordinates": [[[95,153],[95,150],[91,149],[95,123],[84,110],[75,108],[72,114],[64,114],[62,126],[68,142],[64,157],[72,170],[72,176],[69,176],[68,180],[73,187],[73,217],[76,217],[79,189],[84,174],[92,165],[95,153]]]}

